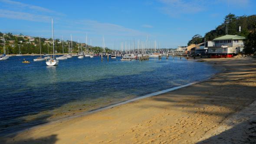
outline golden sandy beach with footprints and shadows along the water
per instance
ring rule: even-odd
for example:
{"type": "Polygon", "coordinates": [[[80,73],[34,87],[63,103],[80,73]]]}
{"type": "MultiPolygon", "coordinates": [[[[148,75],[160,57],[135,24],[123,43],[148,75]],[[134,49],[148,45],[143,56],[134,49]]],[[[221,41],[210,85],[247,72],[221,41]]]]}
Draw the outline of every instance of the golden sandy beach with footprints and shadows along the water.
{"type": "Polygon", "coordinates": [[[224,70],[172,92],[1,137],[0,143],[256,143],[256,59],[201,61],[224,70]]]}

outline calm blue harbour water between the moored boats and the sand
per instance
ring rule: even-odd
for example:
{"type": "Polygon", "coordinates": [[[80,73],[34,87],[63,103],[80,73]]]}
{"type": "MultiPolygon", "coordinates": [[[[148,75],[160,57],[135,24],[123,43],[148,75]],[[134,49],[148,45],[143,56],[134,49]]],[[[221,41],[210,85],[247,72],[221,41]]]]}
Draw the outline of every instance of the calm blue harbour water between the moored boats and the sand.
{"type": "Polygon", "coordinates": [[[0,134],[19,131],[81,112],[204,79],[212,66],[165,58],[121,62],[100,57],[59,61],[56,67],[36,56],[0,61],[0,134]],[[23,59],[30,64],[21,63],[23,59]]]}

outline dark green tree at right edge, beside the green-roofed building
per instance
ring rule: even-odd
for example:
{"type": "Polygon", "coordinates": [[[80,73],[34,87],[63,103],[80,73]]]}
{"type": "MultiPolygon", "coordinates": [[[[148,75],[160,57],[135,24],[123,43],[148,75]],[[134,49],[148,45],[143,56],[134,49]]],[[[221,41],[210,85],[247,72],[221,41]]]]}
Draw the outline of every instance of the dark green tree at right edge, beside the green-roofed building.
{"type": "Polygon", "coordinates": [[[256,52],[256,23],[254,29],[248,34],[246,39],[243,40],[244,49],[243,52],[251,54],[256,52]]]}

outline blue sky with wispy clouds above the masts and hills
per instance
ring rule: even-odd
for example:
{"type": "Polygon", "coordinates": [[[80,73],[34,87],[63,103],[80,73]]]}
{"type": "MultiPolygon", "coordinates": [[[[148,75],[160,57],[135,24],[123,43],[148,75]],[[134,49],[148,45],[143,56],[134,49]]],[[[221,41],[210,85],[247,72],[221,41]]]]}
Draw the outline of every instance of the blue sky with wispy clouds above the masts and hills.
{"type": "Polygon", "coordinates": [[[0,32],[51,37],[120,49],[138,39],[161,48],[186,45],[195,34],[204,36],[228,13],[256,14],[256,0],[0,0],[0,32]]]}

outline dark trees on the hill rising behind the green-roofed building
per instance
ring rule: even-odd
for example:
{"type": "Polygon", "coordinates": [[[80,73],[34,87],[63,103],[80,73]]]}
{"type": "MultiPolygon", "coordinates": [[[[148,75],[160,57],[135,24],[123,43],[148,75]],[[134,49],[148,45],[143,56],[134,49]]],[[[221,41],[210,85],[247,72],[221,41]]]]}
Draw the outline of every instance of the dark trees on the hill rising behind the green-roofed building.
{"type": "MultiPolygon", "coordinates": [[[[256,23],[256,15],[236,16],[230,13],[224,17],[223,22],[219,26],[217,26],[216,29],[211,30],[210,32],[207,32],[205,34],[205,39],[213,40],[217,37],[226,35],[226,22],[228,22],[229,35],[239,35],[247,37],[249,32],[253,30],[253,26],[256,23]],[[239,31],[239,26],[241,26],[241,32],[239,31]]],[[[204,36],[195,35],[188,42],[188,45],[203,42],[204,36]]]]}

